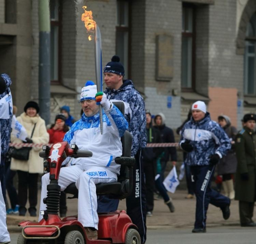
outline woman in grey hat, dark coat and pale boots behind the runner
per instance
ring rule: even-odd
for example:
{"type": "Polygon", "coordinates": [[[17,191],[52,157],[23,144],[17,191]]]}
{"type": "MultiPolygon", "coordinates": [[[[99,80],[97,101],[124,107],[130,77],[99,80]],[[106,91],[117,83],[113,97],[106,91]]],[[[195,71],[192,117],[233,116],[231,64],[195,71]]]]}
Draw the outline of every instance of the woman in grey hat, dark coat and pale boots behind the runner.
{"type": "Polygon", "coordinates": [[[227,155],[224,156],[218,166],[217,172],[218,175],[222,175],[222,185],[224,189],[224,196],[234,199],[234,185],[232,174],[236,173],[237,169],[237,158],[234,151],[234,140],[237,135],[237,129],[234,126],[231,126],[230,118],[227,115],[218,116],[218,123],[224,129],[228,135],[230,142],[232,144],[231,149],[228,151],[227,155]]]}

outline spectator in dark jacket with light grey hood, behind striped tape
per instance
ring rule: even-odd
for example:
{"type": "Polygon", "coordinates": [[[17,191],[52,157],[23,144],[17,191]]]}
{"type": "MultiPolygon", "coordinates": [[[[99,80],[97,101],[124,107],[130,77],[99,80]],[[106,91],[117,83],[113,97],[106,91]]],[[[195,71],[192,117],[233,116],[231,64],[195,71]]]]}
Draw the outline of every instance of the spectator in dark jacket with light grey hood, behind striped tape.
{"type": "MultiPolygon", "coordinates": [[[[165,125],[165,115],[163,113],[158,113],[155,115],[155,128],[157,128],[160,131],[160,135],[161,135],[161,140],[163,143],[173,143],[175,142],[174,139],[174,134],[171,128],[167,127],[165,125]]],[[[166,169],[166,164],[169,161],[169,158],[171,156],[171,161],[172,164],[175,165],[176,161],[177,161],[177,151],[175,147],[165,147],[164,148],[164,153],[163,156],[161,158],[161,180],[163,181],[164,179],[164,173],[165,173],[165,169],[166,169]]]]}

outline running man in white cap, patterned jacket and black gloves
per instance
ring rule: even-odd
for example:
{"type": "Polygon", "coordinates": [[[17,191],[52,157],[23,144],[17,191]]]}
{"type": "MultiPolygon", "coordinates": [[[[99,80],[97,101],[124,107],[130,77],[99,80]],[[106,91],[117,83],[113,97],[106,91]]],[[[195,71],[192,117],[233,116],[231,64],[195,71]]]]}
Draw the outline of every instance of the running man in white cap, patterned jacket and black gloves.
{"type": "Polygon", "coordinates": [[[210,187],[215,165],[231,148],[224,130],[210,118],[206,105],[197,101],[192,105],[192,117],[181,132],[180,147],[187,152],[185,163],[190,165],[191,180],[196,194],[196,221],[193,233],[206,232],[209,203],[221,208],[223,218],[230,216],[230,199],[210,187]]]}

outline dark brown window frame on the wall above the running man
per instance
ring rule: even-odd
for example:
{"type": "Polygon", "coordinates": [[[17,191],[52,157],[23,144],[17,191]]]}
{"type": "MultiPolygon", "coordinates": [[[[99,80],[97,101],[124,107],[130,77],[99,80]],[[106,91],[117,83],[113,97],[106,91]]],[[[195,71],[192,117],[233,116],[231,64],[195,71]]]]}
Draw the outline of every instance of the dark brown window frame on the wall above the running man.
{"type": "MultiPolygon", "coordinates": [[[[181,91],[194,92],[196,90],[196,6],[192,3],[182,3],[182,10],[184,8],[191,8],[193,10],[192,32],[183,32],[183,30],[181,32],[181,42],[183,37],[192,37],[191,87],[183,87],[182,78],[181,78],[181,91]]],[[[186,15],[185,15],[185,18],[186,18],[186,15]]],[[[182,47],[181,47],[181,61],[182,61],[182,47]]],[[[182,72],[182,62],[181,62],[181,72],[182,72]]]]}

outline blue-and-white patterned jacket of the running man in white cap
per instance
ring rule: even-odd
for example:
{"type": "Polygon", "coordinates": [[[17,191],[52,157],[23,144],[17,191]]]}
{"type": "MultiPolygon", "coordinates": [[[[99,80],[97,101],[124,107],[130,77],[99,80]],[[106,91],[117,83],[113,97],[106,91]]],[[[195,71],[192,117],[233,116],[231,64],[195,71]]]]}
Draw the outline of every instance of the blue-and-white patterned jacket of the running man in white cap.
{"type": "Polygon", "coordinates": [[[209,165],[209,156],[217,153],[222,158],[231,148],[227,134],[208,112],[202,120],[196,122],[191,117],[184,125],[180,145],[185,141],[193,146],[193,151],[187,153],[187,165],[209,165]]]}

